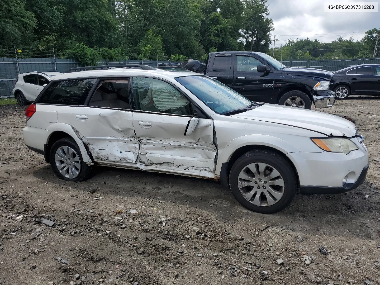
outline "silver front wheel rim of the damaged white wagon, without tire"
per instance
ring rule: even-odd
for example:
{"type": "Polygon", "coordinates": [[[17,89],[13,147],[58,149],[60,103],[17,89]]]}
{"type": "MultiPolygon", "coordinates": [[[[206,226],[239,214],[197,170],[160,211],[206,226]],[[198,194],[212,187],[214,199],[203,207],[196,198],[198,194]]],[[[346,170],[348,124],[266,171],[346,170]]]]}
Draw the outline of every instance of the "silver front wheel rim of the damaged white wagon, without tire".
{"type": "Polygon", "coordinates": [[[245,166],[239,173],[237,186],[240,193],[256,206],[271,206],[284,194],[285,183],[273,166],[255,162],[245,166]]]}

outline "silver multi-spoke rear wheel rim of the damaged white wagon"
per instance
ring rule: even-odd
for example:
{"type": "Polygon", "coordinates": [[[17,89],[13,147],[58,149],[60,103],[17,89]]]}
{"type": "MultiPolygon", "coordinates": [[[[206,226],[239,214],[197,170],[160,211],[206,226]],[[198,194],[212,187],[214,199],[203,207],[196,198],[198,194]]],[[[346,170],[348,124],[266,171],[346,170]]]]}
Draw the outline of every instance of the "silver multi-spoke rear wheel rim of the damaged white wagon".
{"type": "Polygon", "coordinates": [[[55,152],[55,165],[66,178],[75,178],[81,171],[81,160],[78,154],[69,146],[61,146],[55,152]]]}

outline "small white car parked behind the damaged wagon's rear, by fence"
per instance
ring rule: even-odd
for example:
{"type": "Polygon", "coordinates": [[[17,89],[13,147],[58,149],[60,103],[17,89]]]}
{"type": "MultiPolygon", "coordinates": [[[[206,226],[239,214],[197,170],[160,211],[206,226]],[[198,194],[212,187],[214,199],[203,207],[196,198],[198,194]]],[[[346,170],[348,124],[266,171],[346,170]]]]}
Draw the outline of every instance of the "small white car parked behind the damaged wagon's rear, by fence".
{"type": "Polygon", "coordinates": [[[20,106],[33,102],[40,94],[44,86],[51,81],[55,75],[62,74],[60,72],[28,72],[19,74],[14,84],[13,94],[20,106]]]}

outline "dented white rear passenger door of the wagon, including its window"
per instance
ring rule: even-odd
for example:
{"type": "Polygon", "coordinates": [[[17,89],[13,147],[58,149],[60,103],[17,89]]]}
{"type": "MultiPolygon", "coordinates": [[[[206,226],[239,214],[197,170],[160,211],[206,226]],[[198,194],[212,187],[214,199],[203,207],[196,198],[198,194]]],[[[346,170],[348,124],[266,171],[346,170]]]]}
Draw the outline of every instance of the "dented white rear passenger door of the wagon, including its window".
{"type": "Polygon", "coordinates": [[[122,109],[130,108],[129,99],[124,100],[116,93],[128,92],[128,80],[114,80],[121,87],[125,85],[117,91],[104,88],[112,80],[101,81],[89,106],[78,106],[71,121],[98,163],[117,165],[120,162],[135,163],[137,159],[139,142],[133,130],[132,111],[122,109]],[[102,86],[107,92],[102,91],[102,86]]]}

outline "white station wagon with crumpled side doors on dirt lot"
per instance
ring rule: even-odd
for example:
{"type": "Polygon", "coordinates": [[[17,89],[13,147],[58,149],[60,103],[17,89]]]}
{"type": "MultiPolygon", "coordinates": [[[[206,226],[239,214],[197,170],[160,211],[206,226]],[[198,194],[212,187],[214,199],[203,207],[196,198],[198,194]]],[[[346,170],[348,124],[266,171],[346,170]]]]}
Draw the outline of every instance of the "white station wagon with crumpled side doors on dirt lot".
{"type": "Polygon", "coordinates": [[[25,144],[59,178],[103,165],[214,179],[261,213],[298,189],[342,193],[365,180],[364,138],[346,119],[252,102],[180,68],[133,67],[69,70],[26,109],[25,144]]]}

